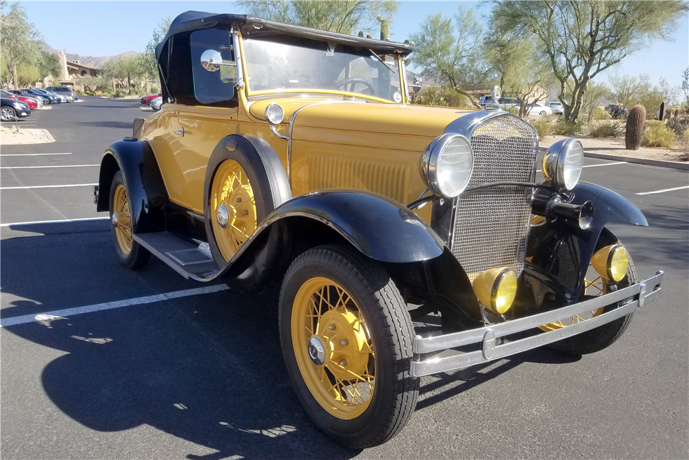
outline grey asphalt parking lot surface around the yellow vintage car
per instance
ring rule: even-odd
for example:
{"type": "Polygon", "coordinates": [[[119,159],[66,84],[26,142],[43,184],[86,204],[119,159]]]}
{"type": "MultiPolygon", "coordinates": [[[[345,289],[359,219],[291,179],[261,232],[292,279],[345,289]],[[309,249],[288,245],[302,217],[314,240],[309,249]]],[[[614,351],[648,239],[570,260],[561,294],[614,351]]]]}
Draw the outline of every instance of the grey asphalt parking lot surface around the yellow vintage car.
{"type": "Polygon", "coordinates": [[[398,437],[349,450],[291,390],[276,290],[116,261],[90,184],[103,150],[151,113],[86,97],[25,121],[56,142],[0,150],[3,459],[687,458],[689,172],[586,159],[582,180],[650,223],[611,226],[640,277],[666,272],[622,339],[582,359],[535,350],[423,378],[398,437]]]}

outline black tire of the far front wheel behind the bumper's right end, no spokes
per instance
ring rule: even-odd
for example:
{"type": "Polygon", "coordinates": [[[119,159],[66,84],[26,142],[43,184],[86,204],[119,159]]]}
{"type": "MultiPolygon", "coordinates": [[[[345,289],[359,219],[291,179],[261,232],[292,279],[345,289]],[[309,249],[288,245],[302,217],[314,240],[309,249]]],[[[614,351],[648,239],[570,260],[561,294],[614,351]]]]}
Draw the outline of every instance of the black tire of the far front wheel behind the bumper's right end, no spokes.
{"type": "MultiPolygon", "coordinates": [[[[617,243],[619,243],[617,237],[615,237],[612,232],[604,228],[601,232],[601,236],[598,238],[598,242],[596,243],[596,250],[617,243]]],[[[630,257],[629,266],[627,268],[627,276],[624,277],[622,281],[618,281],[617,283],[611,281],[610,285],[615,286],[617,289],[621,289],[631,286],[637,281],[639,281],[639,278],[637,277],[637,270],[634,266],[632,258],[630,257]]],[[[604,312],[610,311],[615,307],[616,306],[608,307],[606,310],[604,310],[604,312]]],[[[600,350],[604,350],[604,348],[608,348],[610,345],[615,343],[615,341],[617,341],[617,339],[624,334],[632,322],[633,317],[634,313],[630,313],[624,317],[616,319],[615,321],[611,321],[604,326],[600,326],[599,328],[595,328],[593,330],[583,332],[582,334],[577,334],[574,337],[569,337],[568,339],[555,342],[551,344],[550,347],[559,352],[572,354],[574,356],[599,352],[600,350]]]]}

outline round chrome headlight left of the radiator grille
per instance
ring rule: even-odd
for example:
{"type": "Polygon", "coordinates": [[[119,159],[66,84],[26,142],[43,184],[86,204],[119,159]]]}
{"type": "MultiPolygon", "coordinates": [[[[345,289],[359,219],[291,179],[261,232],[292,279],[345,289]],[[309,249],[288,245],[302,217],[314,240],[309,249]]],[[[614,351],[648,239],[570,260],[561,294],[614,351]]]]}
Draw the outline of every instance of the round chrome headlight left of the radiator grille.
{"type": "Polygon", "coordinates": [[[471,144],[461,134],[443,134],[421,155],[419,172],[433,194],[454,198],[464,191],[473,170],[471,144]]]}

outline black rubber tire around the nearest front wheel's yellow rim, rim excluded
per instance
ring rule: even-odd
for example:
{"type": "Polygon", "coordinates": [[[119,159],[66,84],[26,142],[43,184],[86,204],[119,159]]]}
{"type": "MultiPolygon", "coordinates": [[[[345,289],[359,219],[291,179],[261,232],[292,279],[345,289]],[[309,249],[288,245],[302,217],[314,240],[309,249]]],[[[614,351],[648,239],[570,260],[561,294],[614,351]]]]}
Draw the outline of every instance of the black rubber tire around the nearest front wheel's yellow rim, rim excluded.
{"type": "Polygon", "coordinates": [[[404,428],[419,391],[419,379],[409,374],[413,325],[398,288],[377,263],[344,246],[320,246],[304,252],[285,274],[279,321],[287,371],[304,410],[320,430],[350,448],[368,448],[384,443],[404,428]],[[353,419],[334,417],[323,408],[309,390],[295,356],[291,330],[295,298],[300,288],[316,277],[334,281],[351,296],[365,320],[375,352],[373,396],[353,419]]]}

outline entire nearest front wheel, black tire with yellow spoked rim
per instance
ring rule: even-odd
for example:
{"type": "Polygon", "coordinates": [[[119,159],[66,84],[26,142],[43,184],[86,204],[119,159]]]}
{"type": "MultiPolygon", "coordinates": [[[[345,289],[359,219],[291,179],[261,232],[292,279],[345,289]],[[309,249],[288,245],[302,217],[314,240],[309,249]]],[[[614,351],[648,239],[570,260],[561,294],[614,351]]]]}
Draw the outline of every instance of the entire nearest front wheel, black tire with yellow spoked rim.
{"type": "Polygon", "coordinates": [[[351,448],[384,443],[416,406],[413,326],[377,263],[339,246],[297,257],[280,292],[280,342],[296,394],[316,426],[351,448]]]}

